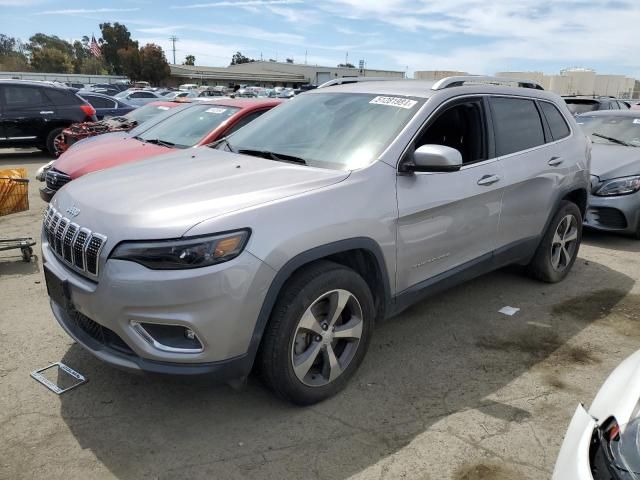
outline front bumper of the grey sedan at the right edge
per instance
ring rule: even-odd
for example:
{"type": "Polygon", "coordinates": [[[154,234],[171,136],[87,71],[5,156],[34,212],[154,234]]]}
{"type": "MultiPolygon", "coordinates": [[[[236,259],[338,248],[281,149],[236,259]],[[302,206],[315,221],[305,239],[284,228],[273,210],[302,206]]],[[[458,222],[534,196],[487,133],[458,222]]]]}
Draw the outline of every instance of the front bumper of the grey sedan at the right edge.
{"type": "Polygon", "coordinates": [[[617,197],[589,195],[584,224],[607,232],[640,232],[640,192],[617,197]]]}

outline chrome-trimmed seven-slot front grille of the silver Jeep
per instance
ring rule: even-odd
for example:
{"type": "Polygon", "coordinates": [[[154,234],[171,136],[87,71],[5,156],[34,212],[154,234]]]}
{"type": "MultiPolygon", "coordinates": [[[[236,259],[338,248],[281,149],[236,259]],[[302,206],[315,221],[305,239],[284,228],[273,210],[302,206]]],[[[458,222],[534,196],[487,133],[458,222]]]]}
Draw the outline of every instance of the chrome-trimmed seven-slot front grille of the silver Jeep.
{"type": "Polygon", "coordinates": [[[98,276],[100,252],[107,237],[72,222],[51,205],[44,214],[44,233],[61,261],[84,275],[98,276]]]}

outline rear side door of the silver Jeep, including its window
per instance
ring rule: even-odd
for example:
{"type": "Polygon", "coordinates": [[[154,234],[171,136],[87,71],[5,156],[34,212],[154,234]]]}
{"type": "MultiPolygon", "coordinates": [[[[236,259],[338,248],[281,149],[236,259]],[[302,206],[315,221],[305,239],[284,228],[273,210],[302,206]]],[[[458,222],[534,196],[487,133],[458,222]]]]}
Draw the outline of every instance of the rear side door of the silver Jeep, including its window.
{"type": "Polygon", "coordinates": [[[558,186],[571,166],[571,155],[564,150],[571,132],[551,102],[493,96],[489,103],[506,184],[498,248],[513,247],[517,254],[520,247],[537,245],[543,234],[558,186]]]}

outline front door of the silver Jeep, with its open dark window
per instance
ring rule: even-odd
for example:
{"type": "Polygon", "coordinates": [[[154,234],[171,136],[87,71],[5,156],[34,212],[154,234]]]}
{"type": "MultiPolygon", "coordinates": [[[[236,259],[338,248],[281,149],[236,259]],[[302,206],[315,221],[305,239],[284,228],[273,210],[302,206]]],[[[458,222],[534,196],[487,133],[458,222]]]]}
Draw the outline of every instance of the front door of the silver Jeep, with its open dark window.
{"type": "Polygon", "coordinates": [[[441,107],[409,146],[408,155],[421,145],[455,148],[463,167],[397,177],[398,292],[494,250],[504,175],[488,140],[484,100],[471,97],[441,107]]]}

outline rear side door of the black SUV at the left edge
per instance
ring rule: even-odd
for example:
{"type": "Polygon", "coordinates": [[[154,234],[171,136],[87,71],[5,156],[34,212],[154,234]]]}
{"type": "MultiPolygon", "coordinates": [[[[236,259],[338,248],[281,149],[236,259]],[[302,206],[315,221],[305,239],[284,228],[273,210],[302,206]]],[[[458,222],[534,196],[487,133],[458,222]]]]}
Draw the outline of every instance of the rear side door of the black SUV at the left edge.
{"type": "Polygon", "coordinates": [[[2,124],[7,144],[44,143],[48,118],[55,108],[43,89],[33,85],[4,85],[2,124]]]}

